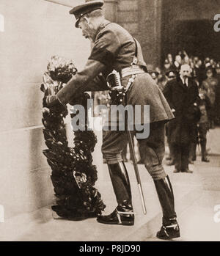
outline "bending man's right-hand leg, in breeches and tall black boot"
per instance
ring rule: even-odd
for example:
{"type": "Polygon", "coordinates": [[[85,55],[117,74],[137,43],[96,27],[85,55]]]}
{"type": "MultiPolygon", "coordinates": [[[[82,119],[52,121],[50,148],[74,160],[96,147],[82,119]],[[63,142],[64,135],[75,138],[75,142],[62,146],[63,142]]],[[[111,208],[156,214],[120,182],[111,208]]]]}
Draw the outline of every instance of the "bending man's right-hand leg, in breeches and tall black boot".
{"type": "Polygon", "coordinates": [[[169,177],[162,166],[165,153],[164,123],[151,123],[150,136],[147,139],[139,139],[139,144],[140,147],[145,148],[145,167],[153,178],[163,211],[163,225],[157,233],[157,237],[162,239],[177,238],[180,236],[180,229],[176,220],[174,194],[169,177]]]}

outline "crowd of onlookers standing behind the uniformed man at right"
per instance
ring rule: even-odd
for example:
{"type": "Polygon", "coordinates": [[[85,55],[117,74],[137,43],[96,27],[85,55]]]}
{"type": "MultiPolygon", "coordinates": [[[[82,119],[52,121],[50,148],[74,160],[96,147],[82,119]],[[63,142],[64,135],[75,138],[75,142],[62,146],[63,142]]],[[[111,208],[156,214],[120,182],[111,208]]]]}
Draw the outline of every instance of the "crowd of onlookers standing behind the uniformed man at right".
{"type": "Polygon", "coordinates": [[[209,162],[206,134],[220,124],[220,62],[180,51],[175,60],[167,54],[163,69],[156,67],[150,74],[175,114],[166,125],[166,164],[175,165],[174,172],[191,172],[188,164],[197,159],[197,145],[202,161],[209,162]]]}

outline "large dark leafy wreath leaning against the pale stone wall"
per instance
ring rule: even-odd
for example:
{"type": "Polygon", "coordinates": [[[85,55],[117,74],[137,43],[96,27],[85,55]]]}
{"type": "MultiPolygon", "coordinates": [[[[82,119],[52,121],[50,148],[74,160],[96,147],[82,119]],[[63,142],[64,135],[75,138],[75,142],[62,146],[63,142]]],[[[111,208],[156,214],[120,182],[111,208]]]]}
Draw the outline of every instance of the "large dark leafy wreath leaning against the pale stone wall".
{"type": "MultiPolygon", "coordinates": [[[[41,91],[44,95],[55,95],[76,71],[71,60],[52,56],[48,71],[43,75],[41,91]]],[[[89,95],[83,93],[77,95],[77,100],[73,102],[87,109],[88,98],[89,95]]],[[[66,106],[43,108],[43,135],[48,147],[43,150],[43,154],[52,170],[51,181],[56,195],[56,205],[51,208],[65,219],[95,217],[106,208],[99,191],[94,187],[98,176],[96,166],[92,165],[92,152],[97,138],[93,131],[88,131],[86,117],[85,131],[73,131],[74,147],[68,147],[64,122],[67,114],[66,106]]],[[[71,114],[71,117],[76,114],[71,114]]]]}

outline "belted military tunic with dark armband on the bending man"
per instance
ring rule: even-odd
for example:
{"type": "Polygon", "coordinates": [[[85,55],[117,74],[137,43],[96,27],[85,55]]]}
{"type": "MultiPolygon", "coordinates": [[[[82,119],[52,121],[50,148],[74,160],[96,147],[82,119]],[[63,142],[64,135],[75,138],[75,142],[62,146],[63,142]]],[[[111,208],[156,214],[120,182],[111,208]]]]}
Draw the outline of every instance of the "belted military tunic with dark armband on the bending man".
{"type": "MultiPolygon", "coordinates": [[[[94,81],[94,78],[100,72],[106,78],[112,70],[120,72],[123,68],[130,67],[135,52],[136,44],[131,34],[123,29],[122,26],[105,21],[98,29],[95,44],[89,56],[89,63],[87,62],[84,70],[73,76],[73,82],[69,86],[67,84],[67,87],[58,93],[59,100],[62,103],[68,103],[80,91],[108,89],[103,80],[94,81]]],[[[142,52],[139,52],[137,65],[143,68],[146,67],[142,52]]],[[[128,78],[122,79],[124,86],[128,83],[128,78]]],[[[164,95],[148,73],[137,75],[133,87],[128,94],[128,104],[133,106],[150,105],[150,122],[173,118],[172,111],[170,111],[164,95]]]]}

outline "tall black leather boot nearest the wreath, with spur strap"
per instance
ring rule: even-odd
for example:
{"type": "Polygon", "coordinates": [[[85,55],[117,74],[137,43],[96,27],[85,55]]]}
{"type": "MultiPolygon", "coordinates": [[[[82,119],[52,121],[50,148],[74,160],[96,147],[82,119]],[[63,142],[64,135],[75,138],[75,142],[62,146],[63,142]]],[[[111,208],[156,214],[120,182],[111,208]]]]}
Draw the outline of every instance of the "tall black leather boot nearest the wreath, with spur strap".
{"type": "Polygon", "coordinates": [[[108,167],[118,205],[111,214],[98,216],[97,221],[104,224],[133,225],[131,186],[125,164],[108,164],[108,167]]]}

